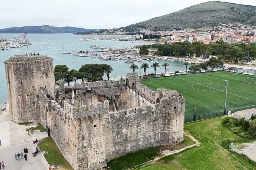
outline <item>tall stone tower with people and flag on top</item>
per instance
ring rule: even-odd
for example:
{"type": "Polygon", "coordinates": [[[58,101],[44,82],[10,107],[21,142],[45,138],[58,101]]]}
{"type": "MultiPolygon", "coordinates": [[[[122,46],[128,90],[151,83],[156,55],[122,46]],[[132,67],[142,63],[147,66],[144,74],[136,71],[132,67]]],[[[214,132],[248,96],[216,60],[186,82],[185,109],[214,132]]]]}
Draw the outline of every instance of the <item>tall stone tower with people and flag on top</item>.
{"type": "Polygon", "coordinates": [[[10,120],[39,121],[39,92],[55,96],[53,58],[14,55],[5,61],[10,120]]]}

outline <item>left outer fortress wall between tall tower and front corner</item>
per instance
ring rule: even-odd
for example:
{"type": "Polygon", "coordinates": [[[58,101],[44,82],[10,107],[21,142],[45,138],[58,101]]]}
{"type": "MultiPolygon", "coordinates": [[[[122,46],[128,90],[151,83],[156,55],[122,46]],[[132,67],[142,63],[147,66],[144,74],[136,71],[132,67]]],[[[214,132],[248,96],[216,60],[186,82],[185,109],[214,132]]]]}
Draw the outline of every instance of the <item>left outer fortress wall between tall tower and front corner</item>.
{"type": "Polygon", "coordinates": [[[77,112],[76,107],[64,103],[65,110],[54,100],[46,97],[43,90],[40,91],[40,123],[51,129],[51,136],[61,151],[62,155],[74,168],[78,169],[77,146],[78,132],[76,121],[71,118],[72,113],[77,112]]]}

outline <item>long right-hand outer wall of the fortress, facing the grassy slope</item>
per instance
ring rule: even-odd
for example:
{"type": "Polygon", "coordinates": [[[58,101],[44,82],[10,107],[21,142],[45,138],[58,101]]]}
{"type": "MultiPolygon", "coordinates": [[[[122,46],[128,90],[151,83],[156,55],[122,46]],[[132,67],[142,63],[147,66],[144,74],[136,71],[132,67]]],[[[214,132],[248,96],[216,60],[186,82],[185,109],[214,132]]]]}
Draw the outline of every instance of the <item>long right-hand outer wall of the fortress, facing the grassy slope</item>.
{"type": "Polygon", "coordinates": [[[110,112],[106,120],[107,161],[151,146],[176,144],[183,140],[184,99],[173,97],[127,112],[110,112]],[[175,109],[174,109],[175,108],[175,109]]]}

